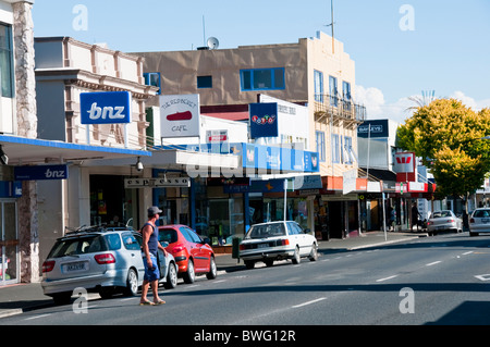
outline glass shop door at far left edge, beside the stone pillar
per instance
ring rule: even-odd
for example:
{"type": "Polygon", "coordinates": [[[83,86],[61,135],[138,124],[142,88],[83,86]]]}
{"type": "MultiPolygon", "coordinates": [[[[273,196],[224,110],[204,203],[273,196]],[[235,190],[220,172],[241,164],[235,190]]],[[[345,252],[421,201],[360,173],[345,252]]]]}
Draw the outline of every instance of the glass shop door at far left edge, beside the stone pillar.
{"type": "Polygon", "coordinates": [[[19,282],[17,259],[17,206],[0,200],[0,285],[19,282]]]}

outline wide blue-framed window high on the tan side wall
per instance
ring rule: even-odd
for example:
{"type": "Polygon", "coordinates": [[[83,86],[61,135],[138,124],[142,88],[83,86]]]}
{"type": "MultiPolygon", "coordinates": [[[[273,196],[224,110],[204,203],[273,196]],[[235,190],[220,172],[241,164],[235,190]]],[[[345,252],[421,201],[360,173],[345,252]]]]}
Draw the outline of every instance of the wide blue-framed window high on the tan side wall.
{"type": "Polygon", "coordinates": [[[242,90],[284,89],[284,67],[240,71],[242,90]]]}

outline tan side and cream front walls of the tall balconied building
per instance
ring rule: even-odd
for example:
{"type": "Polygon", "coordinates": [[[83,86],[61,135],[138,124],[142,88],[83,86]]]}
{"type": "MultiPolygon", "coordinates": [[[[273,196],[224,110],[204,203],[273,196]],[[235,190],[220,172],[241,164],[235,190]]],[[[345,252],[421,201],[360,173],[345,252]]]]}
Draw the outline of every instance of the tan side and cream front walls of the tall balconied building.
{"type": "MultiPolygon", "coordinates": [[[[340,175],[356,169],[357,163],[334,164],[331,158],[331,134],[352,138],[357,148],[356,124],[346,122],[315,122],[314,71],[323,73],[324,94],[328,94],[329,76],[335,76],[340,91],[342,82],[351,84],[355,92],[355,64],[344,52],[343,44],[335,40],[332,53],[331,37],[318,33],[315,38],[301,38],[296,44],[242,46],[236,49],[138,52],[144,57],[145,73],[161,74],[161,92],[164,95],[199,94],[201,106],[234,106],[257,102],[257,95],[308,106],[307,148],[316,150],[316,131],[324,132],[326,161],[320,165],[322,175],[340,175]],[[241,89],[241,70],[284,67],[285,88],[277,90],[241,89]],[[212,75],[212,88],[197,88],[197,76],[212,75]]],[[[149,100],[158,106],[158,98],[149,100]]]]}

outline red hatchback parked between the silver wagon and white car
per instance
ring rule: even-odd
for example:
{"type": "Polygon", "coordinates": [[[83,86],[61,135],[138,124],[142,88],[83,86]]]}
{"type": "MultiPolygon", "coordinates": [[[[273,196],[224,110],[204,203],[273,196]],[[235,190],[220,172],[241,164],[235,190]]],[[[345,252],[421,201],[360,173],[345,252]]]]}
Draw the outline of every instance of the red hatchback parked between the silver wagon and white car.
{"type": "Polygon", "coordinates": [[[181,224],[159,226],[158,240],[175,258],[179,277],[185,283],[193,283],[196,274],[216,278],[215,252],[191,227],[181,224]]]}

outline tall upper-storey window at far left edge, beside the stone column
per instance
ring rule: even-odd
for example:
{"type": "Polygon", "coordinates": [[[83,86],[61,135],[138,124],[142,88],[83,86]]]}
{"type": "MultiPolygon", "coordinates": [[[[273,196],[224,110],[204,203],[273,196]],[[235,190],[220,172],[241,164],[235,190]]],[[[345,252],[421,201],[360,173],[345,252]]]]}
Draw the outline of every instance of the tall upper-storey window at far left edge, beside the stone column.
{"type": "Polygon", "coordinates": [[[13,98],[12,27],[0,23],[0,96],[13,98]]]}

